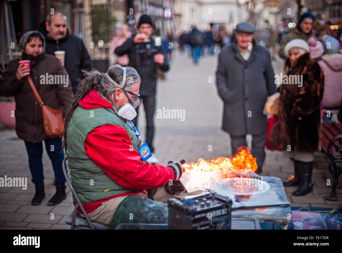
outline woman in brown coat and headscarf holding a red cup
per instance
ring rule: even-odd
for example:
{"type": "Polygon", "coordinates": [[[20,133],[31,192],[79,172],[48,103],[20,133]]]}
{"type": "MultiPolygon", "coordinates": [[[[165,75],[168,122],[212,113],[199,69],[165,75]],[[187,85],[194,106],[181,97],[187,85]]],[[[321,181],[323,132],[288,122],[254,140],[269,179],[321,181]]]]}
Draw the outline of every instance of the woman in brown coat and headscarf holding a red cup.
{"type": "Polygon", "coordinates": [[[36,187],[36,194],[31,203],[39,205],[45,198],[42,163],[44,140],[56,182],[56,194],[48,204],[55,205],[66,198],[65,177],[62,171],[62,138],[49,138],[45,135],[42,110],[26,77],[31,77],[44,105],[53,109],[63,107],[63,118],[66,117],[73,98],[70,78],[57,58],[45,54],[45,38],[40,32],[26,32],[20,39],[19,46],[23,51],[22,57],[9,62],[0,81],[0,95],[15,98],[15,131],[25,142],[32,183],[36,187]],[[47,75],[66,75],[70,85],[49,84],[48,80],[45,80],[47,75]]]}

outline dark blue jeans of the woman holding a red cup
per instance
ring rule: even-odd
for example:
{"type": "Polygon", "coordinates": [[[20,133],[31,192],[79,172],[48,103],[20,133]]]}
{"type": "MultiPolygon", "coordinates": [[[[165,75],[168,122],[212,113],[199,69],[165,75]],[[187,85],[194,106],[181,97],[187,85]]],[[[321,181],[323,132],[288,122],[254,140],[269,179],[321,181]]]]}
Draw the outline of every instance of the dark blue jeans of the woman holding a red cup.
{"type": "MultiPolygon", "coordinates": [[[[57,183],[64,183],[65,177],[62,170],[64,151],[62,153],[60,152],[62,149],[62,138],[48,138],[44,142],[46,151],[52,162],[53,171],[55,172],[55,181],[57,183]]],[[[42,182],[44,179],[42,162],[43,143],[25,142],[25,146],[28,154],[28,165],[32,175],[32,183],[42,182]]]]}

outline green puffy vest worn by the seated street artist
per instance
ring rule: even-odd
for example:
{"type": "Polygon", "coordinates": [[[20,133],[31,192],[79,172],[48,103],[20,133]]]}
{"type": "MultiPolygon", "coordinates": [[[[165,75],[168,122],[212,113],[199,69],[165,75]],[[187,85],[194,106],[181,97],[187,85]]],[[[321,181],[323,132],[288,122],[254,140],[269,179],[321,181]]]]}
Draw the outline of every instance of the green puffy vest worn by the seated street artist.
{"type": "MultiPolygon", "coordinates": [[[[84,142],[88,134],[95,128],[107,124],[123,127],[130,136],[132,147],[135,150],[141,145],[134,130],[128,123],[123,122],[113,109],[76,107],[66,131],[68,147],[65,155],[69,162],[71,183],[83,204],[125,192],[140,192],[126,189],[117,184],[89,158],[84,150],[84,142]]],[[[76,202],[75,199],[74,201],[76,202]]]]}

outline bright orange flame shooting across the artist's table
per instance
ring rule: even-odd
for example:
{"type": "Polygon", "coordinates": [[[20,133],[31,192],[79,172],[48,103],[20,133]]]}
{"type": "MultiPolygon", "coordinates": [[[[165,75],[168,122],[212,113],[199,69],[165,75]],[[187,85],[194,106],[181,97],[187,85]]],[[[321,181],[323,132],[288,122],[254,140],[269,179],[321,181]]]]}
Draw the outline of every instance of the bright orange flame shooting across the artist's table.
{"type": "Polygon", "coordinates": [[[254,158],[247,147],[241,146],[232,158],[218,157],[211,161],[206,161],[203,158],[197,160],[197,163],[184,163],[185,172],[196,173],[206,171],[218,171],[219,174],[226,177],[234,177],[234,170],[239,170],[239,174],[254,172],[258,169],[257,158],[254,158]]]}

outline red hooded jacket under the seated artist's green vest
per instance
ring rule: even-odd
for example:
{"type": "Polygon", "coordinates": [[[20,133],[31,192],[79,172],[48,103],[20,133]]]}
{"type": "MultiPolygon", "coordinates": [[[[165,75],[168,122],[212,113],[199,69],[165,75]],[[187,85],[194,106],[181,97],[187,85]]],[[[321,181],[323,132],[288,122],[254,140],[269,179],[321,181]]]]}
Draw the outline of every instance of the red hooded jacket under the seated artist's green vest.
{"type": "MultiPolygon", "coordinates": [[[[85,109],[108,107],[114,110],[111,104],[96,92],[95,88],[84,96],[78,104],[85,109]]],[[[89,158],[122,187],[143,191],[165,185],[170,179],[174,179],[171,168],[142,161],[139,152],[130,151],[130,145],[131,139],[126,130],[118,125],[111,124],[95,128],[88,134],[84,142],[84,148],[89,158]],[[111,154],[117,155],[112,156],[111,154]]],[[[83,204],[83,207],[86,213],[91,213],[101,203],[109,199],[132,194],[138,195],[134,192],[128,192],[83,204]]],[[[76,205],[75,202],[74,205],[76,205]]],[[[80,208],[78,211],[82,213],[80,208]]]]}

